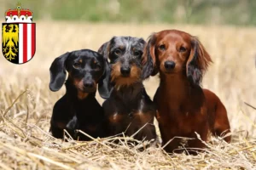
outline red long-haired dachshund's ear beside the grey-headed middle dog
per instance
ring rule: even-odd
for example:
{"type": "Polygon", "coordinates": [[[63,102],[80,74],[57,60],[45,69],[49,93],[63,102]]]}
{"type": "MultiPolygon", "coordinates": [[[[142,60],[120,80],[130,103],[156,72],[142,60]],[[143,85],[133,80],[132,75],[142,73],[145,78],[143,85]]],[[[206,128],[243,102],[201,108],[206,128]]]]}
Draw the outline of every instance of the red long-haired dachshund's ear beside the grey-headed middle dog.
{"type": "Polygon", "coordinates": [[[143,51],[143,79],[148,78],[150,75],[155,76],[158,73],[158,68],[155,65],[155,34],[148,37],[148,43],[143,51]]]}

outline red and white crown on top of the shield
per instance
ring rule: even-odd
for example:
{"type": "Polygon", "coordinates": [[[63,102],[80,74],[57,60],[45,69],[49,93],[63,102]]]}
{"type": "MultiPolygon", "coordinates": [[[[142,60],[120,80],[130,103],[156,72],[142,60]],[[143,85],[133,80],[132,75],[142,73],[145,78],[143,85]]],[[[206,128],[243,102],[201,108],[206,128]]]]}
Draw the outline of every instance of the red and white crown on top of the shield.
{"type": "Polygon", "coordinates": [[[21,8],[20,3],[18,3],[17,8],[6,11],[5,20],[7,23],[32,23],[32,11],[21,8]]]}

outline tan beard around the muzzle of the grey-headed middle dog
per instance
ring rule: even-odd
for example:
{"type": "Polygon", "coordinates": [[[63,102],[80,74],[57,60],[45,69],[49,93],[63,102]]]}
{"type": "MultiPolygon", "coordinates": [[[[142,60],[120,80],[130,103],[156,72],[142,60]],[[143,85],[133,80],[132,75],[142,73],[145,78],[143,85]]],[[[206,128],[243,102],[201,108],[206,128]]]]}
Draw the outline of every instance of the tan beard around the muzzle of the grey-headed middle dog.
{"type": "Polygon", "coordinates": [[[118,62],[112,65],[111,71],[111,82],[115,82],[116,86],[130,86],[135,82],[139,82],[141,78],[142,70],[138,68],[136,65],[131,66],[131,74],[130,77],[122,77],[120,72],[121,64],[118,62]]]}

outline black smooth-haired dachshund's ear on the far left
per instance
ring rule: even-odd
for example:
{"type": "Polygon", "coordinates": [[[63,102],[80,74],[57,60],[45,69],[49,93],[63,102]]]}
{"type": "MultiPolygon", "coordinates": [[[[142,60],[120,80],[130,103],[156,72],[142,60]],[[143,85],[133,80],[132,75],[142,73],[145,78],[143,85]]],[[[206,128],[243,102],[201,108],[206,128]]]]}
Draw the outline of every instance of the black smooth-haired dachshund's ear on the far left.
{"type": "Polygon", "coordinates": [[[70,53],[62,54],[56,58],[49,68],[50,82],[49,89],[53,92],[58,91],[66,80],[66,60],[70,53]]]}

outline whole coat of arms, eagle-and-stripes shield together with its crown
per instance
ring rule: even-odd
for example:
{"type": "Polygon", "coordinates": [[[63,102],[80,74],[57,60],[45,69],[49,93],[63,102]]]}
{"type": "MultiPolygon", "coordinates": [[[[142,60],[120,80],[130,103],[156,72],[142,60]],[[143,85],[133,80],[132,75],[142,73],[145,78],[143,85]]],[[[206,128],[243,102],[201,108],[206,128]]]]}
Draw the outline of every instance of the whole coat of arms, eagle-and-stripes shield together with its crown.
{"type": "Polygon", "coordinates": [[[5,59],[23,64],[36,52],[36,24],[32,23],[32,11],[21,8],[9,9],[2,26],[2,51],[5,59]]]}

